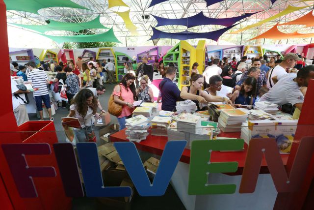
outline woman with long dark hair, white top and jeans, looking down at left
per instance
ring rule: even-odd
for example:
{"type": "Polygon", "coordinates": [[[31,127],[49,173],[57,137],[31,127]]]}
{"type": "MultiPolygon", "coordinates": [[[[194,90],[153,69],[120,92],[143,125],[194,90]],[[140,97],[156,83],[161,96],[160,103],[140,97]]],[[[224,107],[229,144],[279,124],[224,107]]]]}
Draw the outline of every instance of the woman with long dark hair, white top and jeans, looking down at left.
{"type": "Polygon", "coordinates": [[[82,89],[78,92],[70,106],[70,113],[68,117],[77,118],[81,129],[74,128],[74,132],[78,142],[86,142],[88,134],[92,132],[92,126],[95,121],[93,115],[97,119],[101,119],[100,115],[96,113],[98,101],[93,92],[89,89],[82,89]]]}

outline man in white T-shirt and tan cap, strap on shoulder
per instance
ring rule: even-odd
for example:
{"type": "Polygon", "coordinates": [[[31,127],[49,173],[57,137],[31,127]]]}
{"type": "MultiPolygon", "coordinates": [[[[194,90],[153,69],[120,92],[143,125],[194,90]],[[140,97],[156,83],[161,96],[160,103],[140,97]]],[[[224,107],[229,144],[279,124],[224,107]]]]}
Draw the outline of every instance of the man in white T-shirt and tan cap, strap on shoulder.
{"type": "Polygon", "coordinates": [[[275,85],[274,81],[272,80],[273,77],[287,74],[286,69],[293,68],[297,60],[300,60],[300,58],[295,53],[286,54],[283,61],[279,65],[269,70],[267,77],[267,88],[271,89],[275,85]]]}

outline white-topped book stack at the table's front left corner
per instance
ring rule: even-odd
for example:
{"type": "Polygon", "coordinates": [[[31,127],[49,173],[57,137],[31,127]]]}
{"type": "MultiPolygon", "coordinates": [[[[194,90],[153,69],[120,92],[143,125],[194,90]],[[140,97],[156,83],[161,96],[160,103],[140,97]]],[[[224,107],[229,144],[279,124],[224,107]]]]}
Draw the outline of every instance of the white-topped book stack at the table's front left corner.
{"type": "Polygon", "coordinates": [[[149,119],[139,115],[126,120],[126,135],[130,142],[141,142],[149,135],[148,128],[151,126],[149,119]]]}

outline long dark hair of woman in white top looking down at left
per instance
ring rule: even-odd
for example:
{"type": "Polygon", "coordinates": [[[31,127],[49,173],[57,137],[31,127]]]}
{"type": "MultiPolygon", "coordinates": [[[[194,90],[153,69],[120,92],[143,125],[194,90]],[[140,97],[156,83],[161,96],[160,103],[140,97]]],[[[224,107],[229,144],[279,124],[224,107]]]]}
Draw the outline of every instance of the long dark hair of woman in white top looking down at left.
{"type": "Polygon", "coordinates": [[[87,88],[79,90],[78,94],[73,100],[73,104],[77,106],[78,114],[83,118],[86,116],[88,110],[87,98],[93,97],[92,104],[90,107],[93,109],[93,112],[97,111],[98,101],[93,94],[93,92],[87,88]]]}

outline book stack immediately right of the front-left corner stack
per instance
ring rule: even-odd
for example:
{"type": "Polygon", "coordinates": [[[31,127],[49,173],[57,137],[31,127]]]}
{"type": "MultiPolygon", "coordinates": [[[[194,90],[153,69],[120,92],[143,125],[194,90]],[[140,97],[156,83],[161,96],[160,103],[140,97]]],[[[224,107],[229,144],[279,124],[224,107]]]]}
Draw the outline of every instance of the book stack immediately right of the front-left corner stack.
{"type": "Polygon", "coordinates": [[[152,135],[167,136],[167,128],[169,127],[172,118],[156,116],[152,120],[152,135]]]}

